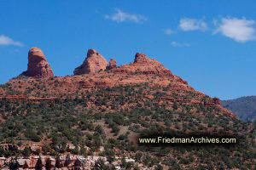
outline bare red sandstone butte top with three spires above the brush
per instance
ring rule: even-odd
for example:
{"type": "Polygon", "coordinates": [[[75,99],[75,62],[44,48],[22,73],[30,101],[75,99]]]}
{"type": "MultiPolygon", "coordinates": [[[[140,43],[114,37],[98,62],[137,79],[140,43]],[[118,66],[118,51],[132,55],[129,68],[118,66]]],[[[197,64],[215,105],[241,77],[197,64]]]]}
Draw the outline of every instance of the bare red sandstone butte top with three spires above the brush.
{"type": "MultiPolygon", "coordinates": [[[[54,77],[53,79],[45,79],[44,77],[53,77],[53,73],[47,63],[43,52],[38,48],[32,48],[29,51],[28,71],[23,75],[31,76],[29,78],[18,77],[12,79],[9,84],[19,84],[20,87],[12,86],[12,90],[19,92],[20,95],[9,95],[5,89],[0,88],[0,99],[8,100],[54,100],[57,98],[67,98],[67,96],[75,96],[74,94],[86,94],[87,92],[95,91],[99,88],[113,88],[119,85],[137,85],[148,83],[148,86],[171,87],[164,93],[166,96],[159,98],[159,103],[169,102],[168,105],[173,105],[174,102],[183,103],[186,105],[208,105],[216,106],[220,110],[232,114],[220,105],[218,98],[210,98],[209,96],[191,88],[188,82],[182,78],[172,74],[164,65],[155,59],[150,59],[145,54],[137,53],[134,62],[130,65],[116,66],[116,60],[108,61],[96,52],[95,49],[89,49],[84,63],[74,71],[74,76],[71,77],[54,77]],[[44,66],[43,66],[44,65],[44,66]],[[40,84],[44,85],[44,90],[35,88],[32,82],[38,82],[34,77],[42,77],[39,79],[40,84]],[[31,88],[32,93],[26,94],[26,88],[31,88]],[[40,96],[37,94],[40,93],[40,96]],[[172,98],[172,94],[177,94],[177,99],[172,98]],[[185,99],[184,95],[193,94],[193,99],[185,99]],[[48,97],[44,97],[48,96],[48,97]],[[171,97],[170,97],[171,96],[171,97]],[[206,100],[207,98],[207,100],[206,100]]],[[[108,95],[108,94],[106,94],[108,95]]],[[[110,97],[118,96],[119,94],[109,94],[110,97]]],[[[152,92],[143,92],[144,99],[153,99],[152,92]],[[150,94],[151,93],[151,94],[150,94]]],[[[89,106],[90,109],[96,109],[96,105],[89,106]]]]}

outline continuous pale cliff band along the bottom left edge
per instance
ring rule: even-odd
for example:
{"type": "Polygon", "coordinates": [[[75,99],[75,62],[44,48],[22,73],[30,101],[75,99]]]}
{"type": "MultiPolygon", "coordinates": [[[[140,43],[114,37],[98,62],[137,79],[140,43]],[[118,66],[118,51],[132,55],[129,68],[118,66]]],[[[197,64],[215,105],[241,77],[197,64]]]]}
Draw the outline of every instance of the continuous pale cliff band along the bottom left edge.
{"type": "MultiPolygon", "coordinates": [[[[116,157],[116,161],[109,162],[105,156],[28,156],[28,157],[0,157],[0,168],[2,170],[9,169],[63,169],[63,170],[89,170],[101,169],[100,160],[105,165],[112,165],[116,169],[120,169],[121,158],[116,157]]],[[[126,162],[134,163],[135,160],[126,157],[126,162]]],[[[141,163],[137,163],[141,169],[148,169],[141,163]]]]}

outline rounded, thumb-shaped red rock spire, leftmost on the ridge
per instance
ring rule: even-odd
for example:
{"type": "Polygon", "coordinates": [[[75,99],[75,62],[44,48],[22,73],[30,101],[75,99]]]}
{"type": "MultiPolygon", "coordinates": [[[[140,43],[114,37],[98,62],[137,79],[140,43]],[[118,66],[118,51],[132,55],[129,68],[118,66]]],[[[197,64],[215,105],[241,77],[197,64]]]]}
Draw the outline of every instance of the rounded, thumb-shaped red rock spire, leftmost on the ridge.
{"type": "Polygon", "coordinates": [[[54,77],[54,73],[40,48],[29,50],[27,71],[24,71],[21,75],[38,78],[54,77]]]}

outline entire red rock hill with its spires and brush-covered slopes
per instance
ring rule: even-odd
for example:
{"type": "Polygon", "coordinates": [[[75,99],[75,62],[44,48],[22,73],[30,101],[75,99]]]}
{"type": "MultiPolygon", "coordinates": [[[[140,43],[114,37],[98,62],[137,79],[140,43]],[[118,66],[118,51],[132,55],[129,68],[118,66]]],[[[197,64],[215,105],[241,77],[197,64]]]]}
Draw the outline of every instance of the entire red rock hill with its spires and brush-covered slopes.
{"type": "Polygon", "coordinates": [[[255,125],[145,54],[117,66],[89,50],[74,75],[54,77],[44,54],[33,48],[28,70],[1,85],[2,169],[256,167],[255,125]],[[153,134],[224,135],[237,143],[138,144],[153,134]]]}

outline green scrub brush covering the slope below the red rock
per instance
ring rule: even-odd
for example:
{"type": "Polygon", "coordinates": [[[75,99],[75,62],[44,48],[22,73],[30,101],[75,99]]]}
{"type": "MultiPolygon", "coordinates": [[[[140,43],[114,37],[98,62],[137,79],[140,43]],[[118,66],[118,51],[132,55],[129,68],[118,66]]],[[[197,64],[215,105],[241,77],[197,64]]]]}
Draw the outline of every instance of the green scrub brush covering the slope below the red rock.
{"type": "MultiPolygon", "coordinates": [[[[166,88],[165,90],[168,90],[166,88]]],[[[148,167],[162,165],[170,169],[250,169],[256,161],[255,125],[244,123],[236,117],[205,105],[161,104],[158,98],[166,95],[161,88],[147,84],[98,89],[83,94],[82,98],[55,99],[42,102],[9,102],[0,100],[1,144],[22,145],[25,141],[43,142],[42,150],[5,150],[0,156],[30,156],[48,154],[57,156],[71,152],[77,155],[93,155],[101,146],[100,154],[113,161],[118,149],[129,153],[136,161],[148,167]],[[145,99],[143,91],[153,92],[154,99],[145,99]],[[159,91],[159,92],[157,92],[159,91]],[[119,95],[109,96],[110,93],[119,95]],[[88,105],[94,102],[96,108],[88,105]],[[104,108],[102,109],[102,106],[104,108]],[[240,135],[242,140],[233,147],[149,147],[135,144],[140,134],[150,133],[230,133],[240,135]],[[68,144],[74,147],[69,148],[68,144]],[[90,150],[85,150],[89,147],[90,150]]],[[[177,98],[177,94],[168,94],[177,98]]],[[[188,93],[183,99],[193,98],[188,93]]],[[[179,97],[181,98],[181,97],[179,97]]],[[[206,100],[209,99],[206,97],[206,100]]],[[[102,161],[96,165],[103,166],[102,161]]],[[[109,169],[104,165],[103,169],[109,169]]],[[[122,167],[133,165],[122,159],[122,167]]]]}

